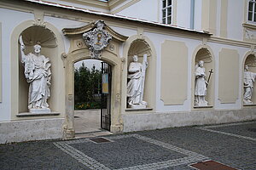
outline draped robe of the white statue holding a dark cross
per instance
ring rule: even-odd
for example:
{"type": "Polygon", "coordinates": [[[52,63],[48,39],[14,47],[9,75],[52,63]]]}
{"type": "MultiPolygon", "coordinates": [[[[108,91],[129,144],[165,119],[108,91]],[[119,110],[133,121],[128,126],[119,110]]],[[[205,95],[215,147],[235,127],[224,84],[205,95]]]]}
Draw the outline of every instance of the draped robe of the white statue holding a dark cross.
{"type": "Polygon", "coordinates": [[[205,68],[197,67],[195,69],[195,95],[196,96],[206,96],[207,95],[207,83],[205,77],[200,77],[205,75],[205,68]]]}

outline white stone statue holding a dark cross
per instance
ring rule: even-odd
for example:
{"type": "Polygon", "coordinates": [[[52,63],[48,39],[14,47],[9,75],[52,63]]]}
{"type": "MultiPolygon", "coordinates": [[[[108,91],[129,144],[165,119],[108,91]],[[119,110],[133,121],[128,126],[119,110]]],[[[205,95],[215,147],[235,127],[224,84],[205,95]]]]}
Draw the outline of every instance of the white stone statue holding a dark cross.
{"type": "Polygon", "coordinates": [[[207,81],[204,61],[200,60],[197,65],[195,65],[195,105],[207,106],[206,101],[207,95],[207,81]]]}

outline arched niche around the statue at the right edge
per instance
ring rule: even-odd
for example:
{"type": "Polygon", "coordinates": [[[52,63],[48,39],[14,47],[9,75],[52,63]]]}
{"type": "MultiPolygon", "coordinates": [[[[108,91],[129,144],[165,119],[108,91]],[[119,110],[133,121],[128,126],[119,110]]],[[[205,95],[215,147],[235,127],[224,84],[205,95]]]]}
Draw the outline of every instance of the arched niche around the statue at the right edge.
{"type": "MultiPolygon", "coordinates": [[[[248,71],[251,71],[253,73],[256,73],[256,56],[254,54],[247,54],[247,57],[244,60],[244,65],[242,67],[242,77],[243,77],[243,81],[242,81],[242,100],[244,99],[244,69],[245,69],[245,65],[248,66],[248,71]]],[[[255,86],[255,83],[253,83],[253,87],[255,86]]],[[[254,88],[253,88],[254,89],[254,88]]],[[[256,90],[253,90],[253,94],[252,94],[252,99],[251,101],[253,102],[252,104],[246,104],[243,103],[243,105],[256,105],[256,90]]]]}

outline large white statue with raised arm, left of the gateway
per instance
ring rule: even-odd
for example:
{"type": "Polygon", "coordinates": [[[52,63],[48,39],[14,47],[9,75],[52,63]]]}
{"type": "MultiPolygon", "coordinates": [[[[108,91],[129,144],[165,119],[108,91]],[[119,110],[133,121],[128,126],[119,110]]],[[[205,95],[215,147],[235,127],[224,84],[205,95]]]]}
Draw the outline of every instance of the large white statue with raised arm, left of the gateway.
{"type": "Polygon", "coordinates": [[[49,113],[50,63],[49,58],[40,54],[41,46],[34,45],[34,53],[25,54],[26,49],[20,36],[21,63],[25,67],[26,82],[29,83],[28,109],[31,113],[49,113]]]}

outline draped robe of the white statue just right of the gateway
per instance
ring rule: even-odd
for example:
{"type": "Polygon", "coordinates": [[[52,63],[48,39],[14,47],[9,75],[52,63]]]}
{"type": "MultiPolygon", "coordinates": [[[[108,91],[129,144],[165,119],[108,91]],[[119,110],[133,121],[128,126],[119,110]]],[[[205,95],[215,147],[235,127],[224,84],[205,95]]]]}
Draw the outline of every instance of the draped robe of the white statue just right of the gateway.
{"type": "Polygon", "coordinates": [[[127,85],[127,97],[129,105],[140,105],[141,95],[143,94],[143,75],[141,63],[131,62],[128,75],[130,81],[127,85]]]}

